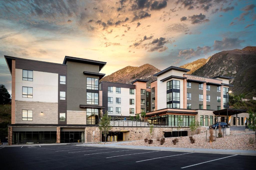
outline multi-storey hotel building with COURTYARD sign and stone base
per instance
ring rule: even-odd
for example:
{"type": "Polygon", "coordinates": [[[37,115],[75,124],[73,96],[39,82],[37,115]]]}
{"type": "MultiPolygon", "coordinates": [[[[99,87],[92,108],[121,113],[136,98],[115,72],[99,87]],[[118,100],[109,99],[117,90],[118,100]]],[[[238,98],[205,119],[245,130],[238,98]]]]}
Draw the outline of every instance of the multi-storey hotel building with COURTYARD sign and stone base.
{"type": "MultiPolygon", "coordinates": [[[[202,126],[227,121],[229,81],[233,77],[201,77],[186,74],[188,69],[168,67],[148,80],[131,84],[100,82],[106,62],[65,56],[62,64],[5,56],[12,75],[12,122],[9,145],[19,143],[72,143],[101,141],[100,115],[112,120],[112,134],[120,140],[142,139],[149,124],[169,137],[182,117],[188,135],[189,123],[202,126]],[[225,110],[226,109],[226,110],[225,110]],[[146,122],[128,121],[146,112],[146,122]],[[135,125],[136,123],[136,125],[135,125]],[[144,127],[143,127],[144,126],[144,127]],[[147,127],[146,127],[147,126],[147,127]],[[122,135],[120,137],[120,135],[122,135]]],[[[228,109],[230,125],[245,125],[245,110],[228,109]]]]}

